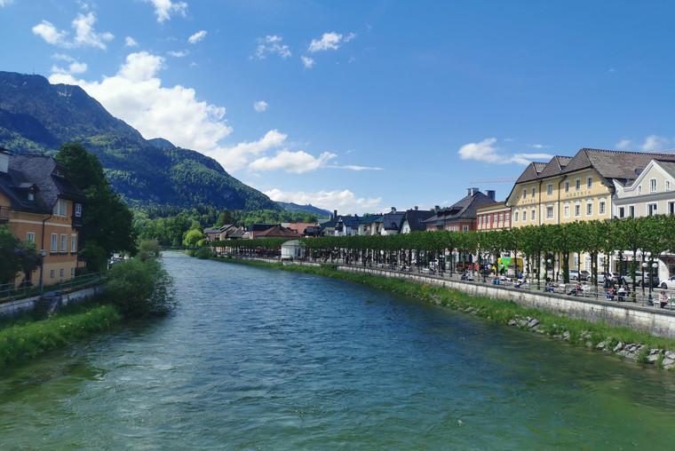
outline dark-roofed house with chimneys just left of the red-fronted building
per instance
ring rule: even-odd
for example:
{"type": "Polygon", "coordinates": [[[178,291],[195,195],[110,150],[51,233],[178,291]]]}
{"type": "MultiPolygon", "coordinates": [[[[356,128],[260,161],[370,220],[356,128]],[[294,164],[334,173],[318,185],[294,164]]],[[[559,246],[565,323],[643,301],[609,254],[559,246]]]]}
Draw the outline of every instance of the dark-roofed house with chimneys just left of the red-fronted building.
{"type": "Polygon", "coordinates": [[[436,207],[435,214],[424,221],[426,230],[449,230],[469,232],[476,229],[476,211],[481,207],[494,205],[495,192],[483,194],[478,188],[467,188],[460,201],[445,209],[436,207]]]}

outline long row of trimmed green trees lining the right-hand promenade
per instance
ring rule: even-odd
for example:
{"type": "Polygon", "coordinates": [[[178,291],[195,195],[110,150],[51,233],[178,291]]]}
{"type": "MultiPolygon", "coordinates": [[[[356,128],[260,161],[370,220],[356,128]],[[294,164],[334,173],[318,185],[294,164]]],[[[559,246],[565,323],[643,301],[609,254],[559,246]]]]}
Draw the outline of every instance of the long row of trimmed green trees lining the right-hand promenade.
{"type": "MultiPolygon", "coordinates": [[[[279,254],[285,241],[288,240],[214,241],[210,246],[226,249],[234,255],[274,256],[279,254]]],[[[480,267],[486,262],[496,263],[498,257],[508,254],[523,257],[527,263],[526,273],[537,280],[552,271],[558,262],[565,283],[569,282],[570,256],[586,254],[592,262],[592,281],[597,283],[600,256],[604,258],[604,271],[609,272],[610,256],[618,254],[623,261],[623,254],[630,255],[630,271],[634,274],[639,271],[642,261],[651,264],[664,252],[675,253],[675,217],[662,215],[468,233],[323,236],[301,241],[306,246],[307,257],[331,262],[342,260],[347,264],[428,265],[441,261],[450,252],[456,256],[449,259],[447,270],[450,272],[461,269],[466,263],[477,263],[480,267]]],[[[632,282],[635,289],[635,277],[632,282]]]]}

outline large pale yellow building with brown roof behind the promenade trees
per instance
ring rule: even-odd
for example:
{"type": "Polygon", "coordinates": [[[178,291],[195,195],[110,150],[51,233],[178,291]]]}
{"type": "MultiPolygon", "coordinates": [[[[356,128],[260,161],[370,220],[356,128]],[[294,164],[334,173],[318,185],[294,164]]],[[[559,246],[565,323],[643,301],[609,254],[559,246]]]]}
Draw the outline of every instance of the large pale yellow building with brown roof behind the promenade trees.
{"type": "MultiPolygon", "coordinates": [[[[631,183],[654,159],[675,162],[675,155],[584,148],[531,162],[506,198],[512,227],[611,219],[615,183],[631,183]]],[[[590,258],[582,257],[570,267],[590,270],[590,258]]]]}

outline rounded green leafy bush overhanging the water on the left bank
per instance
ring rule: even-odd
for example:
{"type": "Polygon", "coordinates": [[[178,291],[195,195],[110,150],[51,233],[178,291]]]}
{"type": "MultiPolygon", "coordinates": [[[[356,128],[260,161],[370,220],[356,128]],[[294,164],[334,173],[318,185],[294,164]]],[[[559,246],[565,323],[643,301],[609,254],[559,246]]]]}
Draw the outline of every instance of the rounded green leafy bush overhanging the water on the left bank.
{"type": "Polygon", "coordinates": [[[171,277],[155,259],[114,265],[106,289],[109,301],[127,318],[162,315],[175,306],[171,277]]]}

